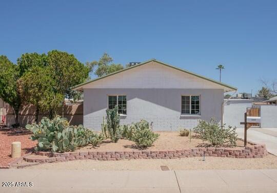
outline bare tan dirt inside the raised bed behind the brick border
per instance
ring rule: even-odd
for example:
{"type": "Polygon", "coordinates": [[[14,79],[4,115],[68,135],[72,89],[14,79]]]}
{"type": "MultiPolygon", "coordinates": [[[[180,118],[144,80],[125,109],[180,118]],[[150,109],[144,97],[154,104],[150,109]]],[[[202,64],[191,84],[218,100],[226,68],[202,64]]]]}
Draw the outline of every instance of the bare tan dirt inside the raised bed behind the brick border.
{"type": "MultiPolygon", "coordinates": [[[[155,132],[160,134],[159,138],[154,142],[151,147],[146,148],[145,150],[157,151],[157,150],[176,150],[176,149],[186,149],[193,147],[201,147],[206,144],[203,143],[201,139],[195,137],[189,140],[189,137],[181,137],[179,132],[155,132]]],[[[237,141],[237,146],[233,147],[234,149],[240,149],[244,146],[242,140],[237,141]]],[[[104,140],[100,146],[92,147],[91,145],[77,149],[77,152],[92,151],[92,152],[109,152],[109,151],[139,151],[135,147],[133,141],[127,139],[120,139],[117,143],[112,143],[111,140],[104,140]]]]}

